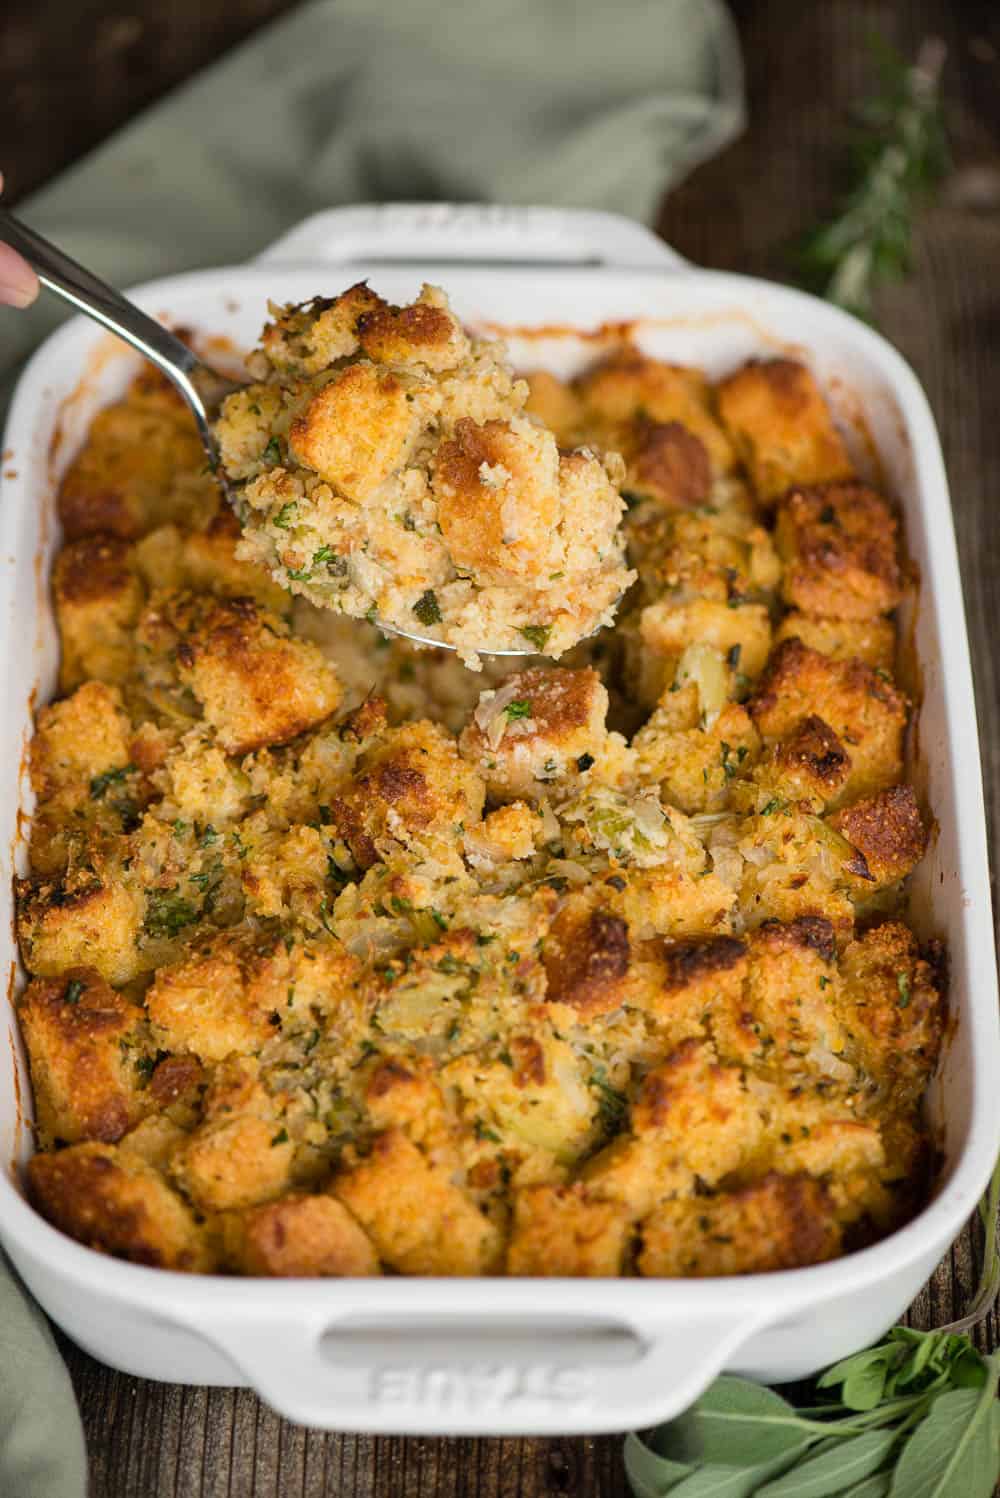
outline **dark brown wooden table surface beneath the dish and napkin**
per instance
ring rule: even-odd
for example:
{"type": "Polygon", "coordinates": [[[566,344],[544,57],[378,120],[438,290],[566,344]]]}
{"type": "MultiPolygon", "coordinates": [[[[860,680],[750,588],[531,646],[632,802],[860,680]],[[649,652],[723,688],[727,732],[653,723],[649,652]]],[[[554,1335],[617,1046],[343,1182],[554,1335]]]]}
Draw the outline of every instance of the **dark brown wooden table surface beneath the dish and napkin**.
{"type": "MultiPolygon", "coordinates": [[[[0,168],[9,201],[40,186],[287,0],[6,0],[0,168]]],[[[979,701],[991,845],[1000,831],[1000,9],[991,0],[738,0],[750,127],[665,202],[663,235],[701,265],[781,277],[784,246],[831,210],[835,141],[871,81],[877,33],[913,55],[948,43],[955,172],[921,222],[913,274],[880,303],[915,366],[951,473],[979,701]]],[[[910,1311],[936,1326],[975,1285],[969,1228],[910,1311]]],[[[1000,1344],[996,1309],[981,1347],[1000,1344]]],[[[64,1344],[87,1429],[91,1498],[612,1498],[621,1441],[323,1435],[246,1390],[127,1378],[64,1344]]]]}

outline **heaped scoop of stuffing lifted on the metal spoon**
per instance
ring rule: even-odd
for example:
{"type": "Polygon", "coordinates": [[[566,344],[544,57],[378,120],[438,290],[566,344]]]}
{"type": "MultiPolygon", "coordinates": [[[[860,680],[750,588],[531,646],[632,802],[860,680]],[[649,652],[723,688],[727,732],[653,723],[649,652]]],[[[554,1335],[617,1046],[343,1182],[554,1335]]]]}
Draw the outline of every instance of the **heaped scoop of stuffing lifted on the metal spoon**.
{"type": "Polygon", "coordinates": [[[253,379],[216,421],[244,560],[322,608],[479,655],[560,656],[611,623],[617,454],[560,451],[503,343],[424,286],[271,306],[253,379]]]}

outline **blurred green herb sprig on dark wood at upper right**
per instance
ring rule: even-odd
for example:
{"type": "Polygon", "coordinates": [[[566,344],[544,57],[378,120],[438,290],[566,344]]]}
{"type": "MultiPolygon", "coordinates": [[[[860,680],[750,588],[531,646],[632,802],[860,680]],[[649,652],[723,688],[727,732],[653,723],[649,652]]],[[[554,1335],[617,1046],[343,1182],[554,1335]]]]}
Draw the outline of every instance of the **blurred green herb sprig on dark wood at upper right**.
{"type": "Polygon", "coordinates": [[[912,66],[880,46],[879,61],[880,90],[859,109],[852,186],[835,217],[795,252],[799,280],[867,321],[879,283],[909,270],[916,213],[949,163],[943,43],[928,39],[912,66]]]}

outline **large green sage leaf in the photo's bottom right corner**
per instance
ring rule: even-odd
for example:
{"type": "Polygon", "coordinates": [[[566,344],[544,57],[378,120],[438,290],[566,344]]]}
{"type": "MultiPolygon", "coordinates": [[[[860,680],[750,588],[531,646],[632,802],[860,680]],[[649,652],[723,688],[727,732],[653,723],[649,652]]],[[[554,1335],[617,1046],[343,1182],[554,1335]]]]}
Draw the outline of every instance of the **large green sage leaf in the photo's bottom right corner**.
{"type": "Polygon", "coordinates": [[[1000,1476],[997,1450],[997,1372],[988,1359],[982,1389],[939,1395],[897,1462],[892,1498],[991,1498],[1000,1476]]]}

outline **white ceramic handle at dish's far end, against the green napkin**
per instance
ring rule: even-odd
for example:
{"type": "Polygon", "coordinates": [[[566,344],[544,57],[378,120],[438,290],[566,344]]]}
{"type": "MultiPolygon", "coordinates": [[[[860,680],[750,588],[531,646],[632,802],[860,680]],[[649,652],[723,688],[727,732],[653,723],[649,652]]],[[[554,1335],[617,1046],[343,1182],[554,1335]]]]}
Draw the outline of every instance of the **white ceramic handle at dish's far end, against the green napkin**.
{"type": "Polygon", "coordinates": [[[265,265],[316,261],[612,265],[656,271],[687,267],[651,229],[618,213],[478,202],[328,208],[257,256],[257,264],[265,265]]]}

